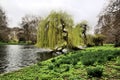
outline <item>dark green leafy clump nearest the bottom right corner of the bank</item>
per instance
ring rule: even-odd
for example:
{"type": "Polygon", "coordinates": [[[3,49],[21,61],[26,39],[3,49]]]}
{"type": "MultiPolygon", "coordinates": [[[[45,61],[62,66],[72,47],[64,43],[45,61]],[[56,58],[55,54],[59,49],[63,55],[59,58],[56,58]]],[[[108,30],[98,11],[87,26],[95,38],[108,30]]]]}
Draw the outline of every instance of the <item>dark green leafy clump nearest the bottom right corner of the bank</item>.
{"type": "Polygon", "coordinates": [[[100,66],[87,68],[87,75],[89,77],[101,77],[103,75],[103,68],[100,66]]]}

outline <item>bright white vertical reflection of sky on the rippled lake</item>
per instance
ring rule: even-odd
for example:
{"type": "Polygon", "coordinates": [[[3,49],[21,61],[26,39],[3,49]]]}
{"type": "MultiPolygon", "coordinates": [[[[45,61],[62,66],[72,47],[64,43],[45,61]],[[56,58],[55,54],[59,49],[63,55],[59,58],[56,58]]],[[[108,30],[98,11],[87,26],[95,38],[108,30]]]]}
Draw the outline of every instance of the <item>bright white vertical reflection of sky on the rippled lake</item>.
{"type": "Polygon", "coordinates": [[[9,45],[6,48],[6,54],[7,54],[7,68],[6,71],[11,71],[19,68],[19,65],[21,65],[21,57],[22,57],[22,46],[19,45],[9,45]]]}

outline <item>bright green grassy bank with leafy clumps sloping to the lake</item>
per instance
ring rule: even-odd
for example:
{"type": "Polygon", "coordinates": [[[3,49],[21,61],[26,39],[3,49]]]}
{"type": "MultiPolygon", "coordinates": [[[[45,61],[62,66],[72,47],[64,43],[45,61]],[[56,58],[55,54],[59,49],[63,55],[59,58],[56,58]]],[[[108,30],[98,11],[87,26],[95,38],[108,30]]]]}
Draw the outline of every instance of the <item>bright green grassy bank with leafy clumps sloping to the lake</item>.
{"type": "Polygon", "coordinates": [[[0,80],[119,80],[120,48],[112,45],[70,52],[21,70],[0,80]]]}

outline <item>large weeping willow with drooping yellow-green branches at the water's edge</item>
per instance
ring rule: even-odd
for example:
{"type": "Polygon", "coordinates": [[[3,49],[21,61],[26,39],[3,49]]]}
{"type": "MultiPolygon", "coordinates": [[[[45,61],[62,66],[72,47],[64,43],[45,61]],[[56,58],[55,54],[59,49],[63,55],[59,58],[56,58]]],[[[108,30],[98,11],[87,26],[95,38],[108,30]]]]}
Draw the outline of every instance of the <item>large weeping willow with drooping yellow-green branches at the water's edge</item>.
{"type": "Polygon", "coordinates": [[[80,28],[73,28],[73,25],[71,15],[66,12],[51,12],[39,24],[37,46],[54,49],[63,45],[67,47],[80,45],[80,28]]]}

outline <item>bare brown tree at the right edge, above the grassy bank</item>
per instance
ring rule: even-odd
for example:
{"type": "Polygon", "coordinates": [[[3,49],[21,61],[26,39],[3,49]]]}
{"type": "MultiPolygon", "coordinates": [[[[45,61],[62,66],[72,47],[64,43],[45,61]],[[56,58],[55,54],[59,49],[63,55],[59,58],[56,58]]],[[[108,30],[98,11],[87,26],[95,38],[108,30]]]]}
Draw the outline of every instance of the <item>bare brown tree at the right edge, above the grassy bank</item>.
{"type": "Polygon", "coordinates": [[[106,42],[120,45],[120,0],[109,0],[108,6],[101,12],[96,33],[106,36],[106,42]]]}

